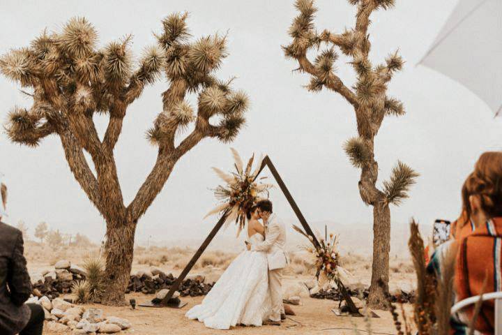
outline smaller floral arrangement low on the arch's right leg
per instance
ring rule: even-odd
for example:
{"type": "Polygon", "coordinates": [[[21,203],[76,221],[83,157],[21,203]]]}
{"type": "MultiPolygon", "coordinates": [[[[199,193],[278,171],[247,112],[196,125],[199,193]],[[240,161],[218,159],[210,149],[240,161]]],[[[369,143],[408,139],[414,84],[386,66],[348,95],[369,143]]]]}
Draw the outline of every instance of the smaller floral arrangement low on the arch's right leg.
{"type": "Polygon", "coordinates": [[[307,237],[312,244],[305,247],[305,250],[312,255],[315,261],[316,278],[320,286],[328,282],[339,283],[338,267],[340,266],[340,255],[337,251],[338,235],[329,235],[329,239],[319,239],[319,246],[314,242],[312,236],[305,234],[297,225],[293,225],[294,230],[307,237]]]}

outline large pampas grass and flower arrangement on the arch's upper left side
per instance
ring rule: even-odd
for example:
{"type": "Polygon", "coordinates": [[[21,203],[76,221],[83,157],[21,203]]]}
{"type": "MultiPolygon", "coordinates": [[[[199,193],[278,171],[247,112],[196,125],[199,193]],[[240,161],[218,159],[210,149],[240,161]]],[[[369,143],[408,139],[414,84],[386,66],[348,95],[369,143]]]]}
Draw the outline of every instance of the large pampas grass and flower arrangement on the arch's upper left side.
{"type": "Polygon", "coordinates": [[[241,232],[245,225],[245,218],[251,207],[254,206],[259,200],[268,198],[268,190],[273,186],[271,184],[264,184],[261,182],[262,177],[257,181],[259,172],[261,172],[261,162],[263,158],[257,161],[257,166],[252,169],[254,163],[254,154],[248,161],[248,165],[244,168],[244,163],[239,156],[236,149],[230,149],[234,156],[234,172],[226,173],[218,168],[213,170],[218,174],[225,185],[219,185],[214,189],[215,197],[222,202],[213,210],[211,210],[206,217],[213,214],[227,214],[225,225],[231,221],[235,221],[238,225],[237,235],[241,232]]]}

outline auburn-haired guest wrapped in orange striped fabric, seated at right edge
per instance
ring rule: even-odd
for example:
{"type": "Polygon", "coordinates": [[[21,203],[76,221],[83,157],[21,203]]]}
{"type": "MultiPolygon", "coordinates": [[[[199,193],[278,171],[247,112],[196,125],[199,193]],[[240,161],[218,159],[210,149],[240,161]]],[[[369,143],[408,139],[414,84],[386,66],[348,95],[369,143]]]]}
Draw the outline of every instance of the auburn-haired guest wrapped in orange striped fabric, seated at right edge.
{"type": "MultiPolygon", "coordinates": [[[[466,180],[466,213],[476,230],[458,241],[455,271],[456,300],[502,290],[502,152],[485,152],[466,180]],[[486,286],[483,289],[483,283],[486,286]]],[[[459,319],[473,317],[473,306],[459,319]]],[[[494,332],[494,303],[482,305],[474,325],[478,332],[494,332]]]]}

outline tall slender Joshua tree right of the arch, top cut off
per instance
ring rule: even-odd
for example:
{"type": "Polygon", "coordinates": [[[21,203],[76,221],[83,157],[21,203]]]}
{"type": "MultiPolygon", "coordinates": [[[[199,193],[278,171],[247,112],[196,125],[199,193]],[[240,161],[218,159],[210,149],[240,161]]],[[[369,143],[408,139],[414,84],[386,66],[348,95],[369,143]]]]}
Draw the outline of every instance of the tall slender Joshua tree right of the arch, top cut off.
{"type": "Polygon", "coordinates": [[[387,95],[387,85],[395,72],[401,70],[403,61],[396,53],[390,54],[385,64],[374,65],[368,57],[370,40],[368,26],[374,10],[394,6],[394,0],[349,0],[357,6],[356,27],[342,34],[314,28],[314,14],[317,8],[313,0],[297,0],[300,12],[294,19],[289,35],[293,40],[284,47],[287,57],[298,61],[298,70],[310,75],[307,89],[321,91],[324,87],[335,91],[353,107],[357,121],[358,136],[348,140],[344,146],[351,163],[360,168],[358,183],[360,197],[365,204],[373,207],[373,266],[370,306],[386,304],[388,292],[388,271],[390,252],[390,209],[389,204],[400,204],[407,198],[409,186],[414,184],[418,174],[401,162],[393,168],[389,181],[383,181],[383,188],[377,187],[378,163],[374,157],[374,137],[377,135],[384,117],[400,116],[404,108],[400,101],[387,95]],[[311,49],[318,51],[321,45],[326,50],[317,54],[314,61],[307,57],[311,49]],[[335,74],[334,63],[340,50],[349,59],[356,71],[356,84],[347,87],[335,74]]]}

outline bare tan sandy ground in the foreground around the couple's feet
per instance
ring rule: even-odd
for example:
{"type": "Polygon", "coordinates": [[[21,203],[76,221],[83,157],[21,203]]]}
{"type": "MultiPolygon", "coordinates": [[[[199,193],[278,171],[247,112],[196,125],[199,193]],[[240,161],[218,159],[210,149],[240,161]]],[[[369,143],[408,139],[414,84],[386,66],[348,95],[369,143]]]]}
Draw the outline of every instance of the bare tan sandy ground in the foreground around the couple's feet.
{"type": "MultiPolygon", "coordinates": [[[[139,303],[151,297],[142,294],[127,295],[127,299],[135,298],[139,303]]],[[[116,315],[127,318],[132,329],[122,334],[354,334],[354,327],[364,331],[366,325],[363,318],[338,317],[331,309],[337,305],[335,301],[303,298],[301,306],[292,306],[296,313],[280,326],[235,327],[227,331],[218,331],[204,327],[204,324],[188,320],[184,314],[203,297],[185,297],[188,305],[181,308],[144,308],[109,307],[101,305],[85,305],[85,307],[102,308],[105,315],[116,315]]],[[[375,311],[381,318],[371,320],[373,334],[397,334],[392,316],[388,311],[375,311]]],[[[364,332],[365,333],[365,332],[364,332]]],[[[361,332],[361,334],[364,334],[361,332]]],[[[44,332],[43,334],[62,334],[44,332]]],[[[70,333],[68,333],[70,334],[70,333]]]]}

